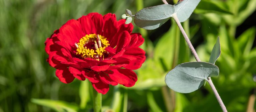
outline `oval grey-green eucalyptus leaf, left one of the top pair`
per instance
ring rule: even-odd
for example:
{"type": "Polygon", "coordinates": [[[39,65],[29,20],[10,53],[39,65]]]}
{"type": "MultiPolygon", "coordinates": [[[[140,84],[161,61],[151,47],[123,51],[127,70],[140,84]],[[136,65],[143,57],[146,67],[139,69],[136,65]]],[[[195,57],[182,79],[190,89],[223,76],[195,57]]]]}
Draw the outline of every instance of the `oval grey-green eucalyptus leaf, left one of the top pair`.
{"type": "Polygon", "coordinates": [[[134,23],[141,28],[153,30],[170,19],[173,13],[174,7],[169,4],[147,7],[135,14],[134,23]]]}

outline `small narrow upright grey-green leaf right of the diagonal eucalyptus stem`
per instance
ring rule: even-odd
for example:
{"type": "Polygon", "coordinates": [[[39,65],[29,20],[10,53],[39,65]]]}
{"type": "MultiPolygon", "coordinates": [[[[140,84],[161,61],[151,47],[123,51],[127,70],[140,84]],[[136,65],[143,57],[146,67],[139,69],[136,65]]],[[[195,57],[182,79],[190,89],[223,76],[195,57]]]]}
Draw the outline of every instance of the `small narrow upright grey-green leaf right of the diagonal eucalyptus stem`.
{"type": "Polygon", "coordinates": [[[220,57],[220,37],[217,38],[217,41],[213,46],[209,63],[214,64],[219,57],[220,57]]]}

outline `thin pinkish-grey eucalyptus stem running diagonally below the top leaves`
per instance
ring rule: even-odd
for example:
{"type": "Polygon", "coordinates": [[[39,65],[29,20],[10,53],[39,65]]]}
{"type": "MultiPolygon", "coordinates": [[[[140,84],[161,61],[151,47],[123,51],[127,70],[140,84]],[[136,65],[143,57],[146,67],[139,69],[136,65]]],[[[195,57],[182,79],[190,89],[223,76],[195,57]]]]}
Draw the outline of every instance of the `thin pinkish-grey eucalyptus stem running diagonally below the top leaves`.
{"type": "MultiPolygon", "coordinates": [[[[185,30],[183,29],[182,25],[180,24],[180,21],[179,21],[179,19],[178,19],[178,17],[177,17],[177,14],[174,13],[174,14],[172,15],[172,18],[175,20],[175,22],[177,23],[178,27],[180,28],[180,31],[181,31],[181,33],[183,34],[183,36],[184,36],[184,38],[185,38],[185,40],[186,40],[186,42],[187,42],[187,44],[188,44],[188,46],[189,46],[189,49],[191,50],[192,54],[194,55],[196,61],[201,61],[201,60],[199,59],[199,56],[198,56],[197,53],[196,53],[195,48],[194,48],[193,45],[191,44],[191,42],[190,42],[190,40],[189,40],[189,38],[188,38],[188,36],[187,36],[185,30]]],[[[215,86],[213,85],[212,80],[211,80],[210,77],[207,78],[207,82],[209,83],[210,87],[212,88],[213,93],[214,93],[216,99],[218,100],[222,111],[223,111],[223,112],[227,112],[227,109],[226,109],[224,103],[222,102],[222,100],[221,100],[221,98],[220,98],[220,95],[219,95],[219,93],[217,92],[215,86]]]]}

